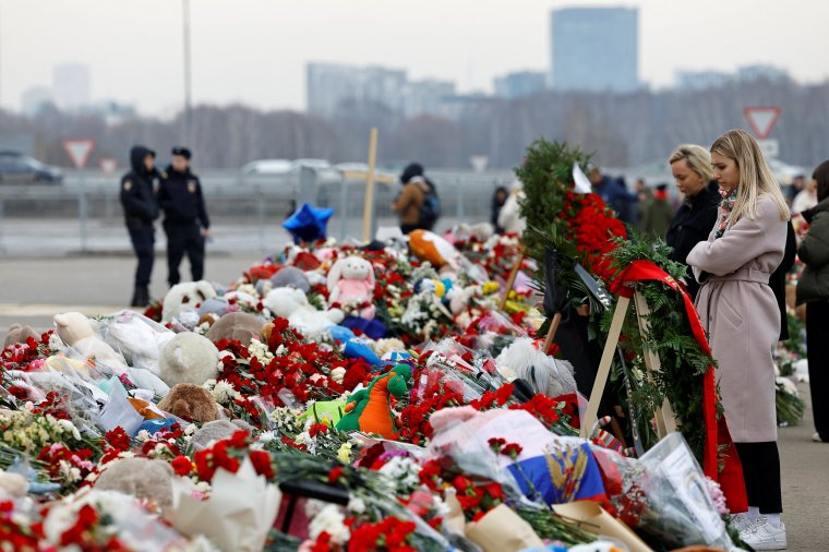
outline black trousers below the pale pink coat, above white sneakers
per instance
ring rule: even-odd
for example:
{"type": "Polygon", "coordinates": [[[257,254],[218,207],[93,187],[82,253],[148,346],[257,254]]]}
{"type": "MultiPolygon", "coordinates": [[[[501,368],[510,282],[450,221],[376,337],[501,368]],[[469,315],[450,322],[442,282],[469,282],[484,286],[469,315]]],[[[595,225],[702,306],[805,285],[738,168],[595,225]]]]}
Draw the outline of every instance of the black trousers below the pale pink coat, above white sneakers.
{"type": "Polygon", "coordinates": [[[760,514],[783,512],[780,491],[780,454],[777,442],[734,443],[748,495],[748,505],[760,508],[760,514]]]}

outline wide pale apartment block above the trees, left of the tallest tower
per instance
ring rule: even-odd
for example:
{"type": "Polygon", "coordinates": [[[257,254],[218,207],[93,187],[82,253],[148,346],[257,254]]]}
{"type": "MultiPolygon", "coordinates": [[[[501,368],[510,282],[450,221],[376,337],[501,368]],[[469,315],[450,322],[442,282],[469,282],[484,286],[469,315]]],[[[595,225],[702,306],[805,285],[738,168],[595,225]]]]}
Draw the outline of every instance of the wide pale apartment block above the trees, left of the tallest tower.
{"type": "Polygon", "coordinates": [[[384,105],[401,112],[406,71],[380,67],[358,68],[337,63],[309,63],[308,111],[332,117],[345,105],[384,105]]]}

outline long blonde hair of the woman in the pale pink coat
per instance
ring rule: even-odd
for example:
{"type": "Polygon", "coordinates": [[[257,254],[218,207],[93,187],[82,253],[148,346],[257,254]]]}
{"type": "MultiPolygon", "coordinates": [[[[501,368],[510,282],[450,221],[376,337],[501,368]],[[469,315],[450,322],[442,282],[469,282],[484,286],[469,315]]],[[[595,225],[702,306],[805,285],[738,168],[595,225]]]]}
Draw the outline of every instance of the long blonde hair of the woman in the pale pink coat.
{"type": "Polygon", "coordinates": [[[746,131],[730,130],[714,141],[711,153],[734,159],[740,169],[737,199],[731,212],[729,226],[734,226],[744,216],[752,220],[757,218],[757,202],[766,194],[777,203],[781,220],[791,218],[780,184],[769,169],[760,146],[746,131]]]}

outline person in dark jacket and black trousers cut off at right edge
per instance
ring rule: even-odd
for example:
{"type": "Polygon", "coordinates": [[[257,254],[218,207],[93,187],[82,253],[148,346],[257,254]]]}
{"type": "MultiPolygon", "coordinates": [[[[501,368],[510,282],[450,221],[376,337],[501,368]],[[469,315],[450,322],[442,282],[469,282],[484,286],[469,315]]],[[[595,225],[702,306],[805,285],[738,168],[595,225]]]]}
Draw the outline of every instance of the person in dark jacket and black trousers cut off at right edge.
{"type": "Polygon", "coordinates": [[[817,181],[818,204],[805,216],[809,229],[797,255],[806,265],[797,281],[797,304],[806,303],[806,356],[809,364],[812,411],[817,432],[812,440],[829,443],[829,160],[813,177],[817,181]]]}

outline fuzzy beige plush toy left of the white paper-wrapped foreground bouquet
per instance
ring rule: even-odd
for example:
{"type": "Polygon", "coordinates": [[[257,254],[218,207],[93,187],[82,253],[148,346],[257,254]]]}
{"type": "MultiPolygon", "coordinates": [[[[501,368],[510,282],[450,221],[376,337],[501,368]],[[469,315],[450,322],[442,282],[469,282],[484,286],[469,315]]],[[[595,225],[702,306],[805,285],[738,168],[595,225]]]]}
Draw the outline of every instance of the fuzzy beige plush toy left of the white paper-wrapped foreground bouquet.
{"type": "Polygon", "coordinates": [[[172,506],[172,468],[164,460],[122,458],[107,465],[95,489],[118,491],[167,508],[172,506]]]}

